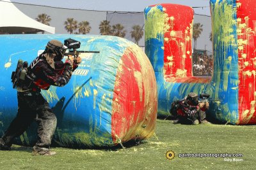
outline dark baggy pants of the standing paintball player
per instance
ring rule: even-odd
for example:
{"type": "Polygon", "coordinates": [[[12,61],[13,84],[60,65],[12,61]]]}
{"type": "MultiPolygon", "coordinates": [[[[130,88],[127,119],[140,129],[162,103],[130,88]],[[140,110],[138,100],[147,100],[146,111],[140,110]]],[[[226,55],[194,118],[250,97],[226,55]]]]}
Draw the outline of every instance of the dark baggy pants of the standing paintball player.
{"type": "Polygon", "coordinates": [[[34,150],[49,150],[57,119],[48,102],[39,92],[18,92],[17,116],[1,138],[5,146],[12,146],[13,139],[23,134],[34,120],[38,124],[38,141],[34,150]]]}

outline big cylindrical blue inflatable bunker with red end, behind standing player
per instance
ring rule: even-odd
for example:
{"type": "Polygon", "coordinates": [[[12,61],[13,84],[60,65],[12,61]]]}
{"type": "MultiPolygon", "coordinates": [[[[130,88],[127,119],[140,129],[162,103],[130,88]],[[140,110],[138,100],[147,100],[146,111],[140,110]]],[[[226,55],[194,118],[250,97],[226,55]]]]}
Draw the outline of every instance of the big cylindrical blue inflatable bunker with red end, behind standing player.
{"type": "MultiPolygon", "coordinates": [[[[136,44],[116,36],[1,35],[0,135],[17,114],[11,74],[22,59],[31,63],[49,40],[81,42],[82,63],[62,88],[42,90],[58,118],[52,143],[59,146],[113,146],[154,134],[157,88],[154,70],[136,44]]],[[[17,144],[36,142],[36,123],[17,144]]]]}

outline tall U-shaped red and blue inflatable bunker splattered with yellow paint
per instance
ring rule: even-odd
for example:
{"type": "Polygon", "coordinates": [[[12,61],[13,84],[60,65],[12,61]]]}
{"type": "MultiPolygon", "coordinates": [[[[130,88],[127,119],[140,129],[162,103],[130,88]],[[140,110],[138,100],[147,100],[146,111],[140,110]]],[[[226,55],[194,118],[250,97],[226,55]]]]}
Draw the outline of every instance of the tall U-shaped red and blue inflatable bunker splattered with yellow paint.
{"type": "Polygon", "coordinates": [[[193,9],[179,4],[145,8],[145,53],[156,73],[158,116],[189,92],[209,93],[212,118],[234,125],[256,124],[256,4],[210,1],[212,77],[192,73],[193,9]]]}

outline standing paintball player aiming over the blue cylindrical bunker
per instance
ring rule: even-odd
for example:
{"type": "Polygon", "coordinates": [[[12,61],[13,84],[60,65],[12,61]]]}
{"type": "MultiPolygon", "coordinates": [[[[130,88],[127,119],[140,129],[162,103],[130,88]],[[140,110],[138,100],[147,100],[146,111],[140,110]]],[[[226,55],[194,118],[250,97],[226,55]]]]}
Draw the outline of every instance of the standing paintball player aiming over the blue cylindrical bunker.
{"type": "Polygon", "coordinates": [[[35,120],[38,123],[38,141],[33,146],[32,155],[56,154],[50,150],[50,144],[57,118],[40,91],[49,89],[51,85],[65,86],[70,80],[72,72],[81,63],[79,56],[76,59],[74,56],[68,56],[63,63],[61,59],[66,50],[67,47],[63,43],[51,40],[47,43],[44,52],[28,66],[24,82],[18,83],[19,86],[17,86],[17,116],[1,137],[0,150],[10,150],[13,139],[21,135],[35,120]]]}

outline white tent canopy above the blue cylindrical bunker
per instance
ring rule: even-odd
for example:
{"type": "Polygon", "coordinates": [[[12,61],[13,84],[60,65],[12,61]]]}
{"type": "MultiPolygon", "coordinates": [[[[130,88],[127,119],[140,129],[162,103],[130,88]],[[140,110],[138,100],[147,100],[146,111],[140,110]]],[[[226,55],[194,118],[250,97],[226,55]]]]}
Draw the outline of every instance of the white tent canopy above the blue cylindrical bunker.
{"type": "Polygon", "coordinates": [[[47,26],[31,19],[20,12],[10,0],[0,1],[0,32],[8,33],[37,33],[47,31],[55,33],[55,27],[47,26]]]}

